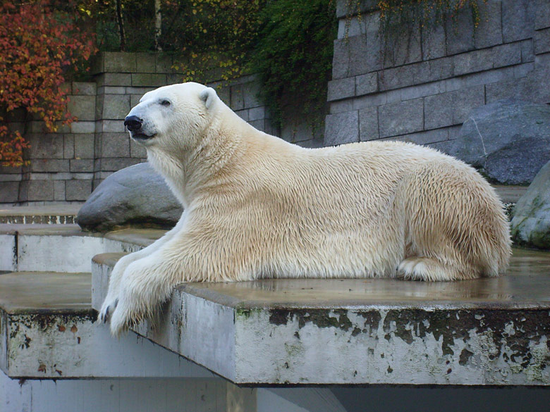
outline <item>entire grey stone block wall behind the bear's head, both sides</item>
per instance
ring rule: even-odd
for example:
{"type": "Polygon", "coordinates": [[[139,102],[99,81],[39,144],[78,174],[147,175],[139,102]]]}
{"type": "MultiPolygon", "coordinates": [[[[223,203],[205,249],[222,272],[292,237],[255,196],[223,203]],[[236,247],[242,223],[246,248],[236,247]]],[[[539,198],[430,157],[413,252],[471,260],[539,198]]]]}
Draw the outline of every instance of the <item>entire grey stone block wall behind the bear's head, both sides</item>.
{"type": "MultiPolygon", "coordinates": [[[[124,118],[145,92],[181,82],[166,54],[104,53],[92,66],[94,82],[66,85],[68,109],[78,118],[55,133],[37,120],[12,113],[11,127],[25,133],[30,166],[0,167],[0,204],[82,202],[116,170],[146,160],[145,149],[130,139],[124,118]]],[[[265,106],[257,99],[255,76],[210,86],[238,115],[259,130],[276,134],[265,106]]]]}

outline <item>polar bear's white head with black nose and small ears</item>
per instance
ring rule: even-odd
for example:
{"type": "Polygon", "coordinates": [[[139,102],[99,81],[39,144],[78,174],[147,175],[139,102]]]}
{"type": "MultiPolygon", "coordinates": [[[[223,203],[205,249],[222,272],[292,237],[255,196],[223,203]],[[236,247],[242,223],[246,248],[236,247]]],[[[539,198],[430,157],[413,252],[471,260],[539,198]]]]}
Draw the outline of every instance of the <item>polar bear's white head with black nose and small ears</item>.
{"type": "Polygon", "coordinates": [[[159,87],[143,95],[124,125],[147,149],[185,151],[197,145],[219,104],[214,89],[198,83],[159,87]]]}

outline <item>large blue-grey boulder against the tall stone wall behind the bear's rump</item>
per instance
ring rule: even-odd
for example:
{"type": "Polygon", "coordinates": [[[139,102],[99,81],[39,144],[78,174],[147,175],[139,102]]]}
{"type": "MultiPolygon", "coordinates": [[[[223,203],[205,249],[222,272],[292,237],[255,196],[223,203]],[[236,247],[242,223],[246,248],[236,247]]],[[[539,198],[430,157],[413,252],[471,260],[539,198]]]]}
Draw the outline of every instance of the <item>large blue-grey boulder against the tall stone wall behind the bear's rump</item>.
{"type": "Polygon", "coordinates": [[[475,108],[448,152],[491,182],[529,185],[550,158],[550,106],[501,100],[475,108]]]}

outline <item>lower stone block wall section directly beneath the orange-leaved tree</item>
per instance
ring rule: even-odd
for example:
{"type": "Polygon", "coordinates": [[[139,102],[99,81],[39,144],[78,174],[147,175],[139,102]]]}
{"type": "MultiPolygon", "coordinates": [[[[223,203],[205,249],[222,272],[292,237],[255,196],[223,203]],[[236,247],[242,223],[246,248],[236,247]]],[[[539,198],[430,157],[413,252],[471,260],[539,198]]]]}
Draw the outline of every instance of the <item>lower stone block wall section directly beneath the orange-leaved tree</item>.
{"type": "Polygon", "coordinates": [[[44,123],[26,120],[24,112],[13,116],[10,126],[25,133],[30,166],[0,167],[0,203],[79,202],[92,190],[94,175],[95,101],[92,82],[67,84],[68,109],[78,121],[45,131],[44,123]],[[26,120],[26,121],[25,121],[26,120]]]}

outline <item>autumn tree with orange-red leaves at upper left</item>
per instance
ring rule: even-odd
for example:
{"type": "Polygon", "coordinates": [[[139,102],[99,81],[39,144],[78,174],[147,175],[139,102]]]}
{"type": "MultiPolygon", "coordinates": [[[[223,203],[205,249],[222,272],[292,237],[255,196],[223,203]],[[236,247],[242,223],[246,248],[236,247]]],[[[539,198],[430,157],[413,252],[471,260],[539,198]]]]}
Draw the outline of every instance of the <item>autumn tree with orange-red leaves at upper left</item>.
{"type": "Polygon", "coordinates": [[[0,163],[23,165],[28,147],[19,131],[11,131],[6,116],[24,108],[44,121],[50,132],[75,120],[66,111],[62,85],[68,70],[96,51],[90,33],[77,25],[71,2],[54,7],[50,0],[0,5],[0,163]]]}

